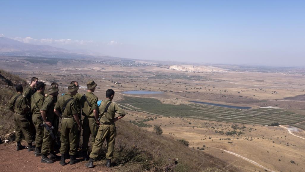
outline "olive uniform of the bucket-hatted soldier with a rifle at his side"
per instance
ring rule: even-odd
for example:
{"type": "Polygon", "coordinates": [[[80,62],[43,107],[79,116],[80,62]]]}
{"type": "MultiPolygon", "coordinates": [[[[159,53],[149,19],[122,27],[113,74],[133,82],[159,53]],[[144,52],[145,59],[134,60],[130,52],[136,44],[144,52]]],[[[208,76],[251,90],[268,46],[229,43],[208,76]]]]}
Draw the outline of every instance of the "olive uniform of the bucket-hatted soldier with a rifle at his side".
{"type": "MultiPolygon", "coordinates": [[[[51,96],[48,96],[45,98],[45,101],[43,102],[41,111],[46,112],[47,120],[52,123],[52,126],[54,127],[55,130],[55,128],[58,128],[58,126],[56,126],[57,119],[56,119],[56,114],[54,113],[54,106],[55,106],[55,99],[51,96]]],[[[41,147],[41,153],[47,154],[48,150],[50,150],[50,152],[54,151],[54,146],[55,146],[55,140],[52,139],[50,132],[47,129],[45,129],[42,147],[41,147]]]]}

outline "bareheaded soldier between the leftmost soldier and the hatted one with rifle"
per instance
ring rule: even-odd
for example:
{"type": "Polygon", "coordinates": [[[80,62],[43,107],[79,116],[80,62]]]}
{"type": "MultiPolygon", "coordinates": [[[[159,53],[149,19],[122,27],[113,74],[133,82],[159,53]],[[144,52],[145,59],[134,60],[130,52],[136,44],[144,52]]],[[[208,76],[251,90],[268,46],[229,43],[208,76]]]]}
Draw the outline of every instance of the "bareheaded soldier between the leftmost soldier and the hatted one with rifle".
{"type": "Polygon", "coordinates": [[[36,93],[33,94],[31,97],[31,110],[33,113],[32,121],[35,126],[36,130],[36,137],[35,137],[35,144],[36,149],[34,151],[35,156],[41,156],[41,146],[42,146],[42,139],[44,135],[44,128],[40,126],[43,123],[41,119],[40,109],[45,101],[44,92],[45,92],[45,83],[38,82],[36,85],[36,93]]]}

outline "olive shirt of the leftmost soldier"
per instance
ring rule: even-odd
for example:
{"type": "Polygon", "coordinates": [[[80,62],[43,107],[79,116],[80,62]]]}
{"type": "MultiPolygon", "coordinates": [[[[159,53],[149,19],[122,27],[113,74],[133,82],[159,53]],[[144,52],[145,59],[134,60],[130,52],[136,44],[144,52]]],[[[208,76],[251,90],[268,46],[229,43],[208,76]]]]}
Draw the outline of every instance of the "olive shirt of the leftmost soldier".
{"type": "Polygon", "coordinates": [[[23,96],[21,93],[16,93],[11,100],[9,100],[9,109],[13,109],[14,112],[18,114],[24,115],[26,111],[23,109],[27,108],[27,99],[25,96],[23,96]],[[15,106],[13,105],[15,98],[18,96],[15,102],[15,106]]]}

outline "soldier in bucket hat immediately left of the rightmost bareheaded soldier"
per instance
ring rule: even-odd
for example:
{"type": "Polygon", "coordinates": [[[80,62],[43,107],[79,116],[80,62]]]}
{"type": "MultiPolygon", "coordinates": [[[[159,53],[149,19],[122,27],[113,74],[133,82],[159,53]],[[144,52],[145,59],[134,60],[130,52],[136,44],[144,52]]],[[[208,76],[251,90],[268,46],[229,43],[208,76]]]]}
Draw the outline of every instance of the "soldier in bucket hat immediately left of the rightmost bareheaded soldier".
{"type": "Polygon", "coordinates": [[[82,114],[84,116],[84,121],[82,124],[83,128],[83,147],[82,152],[84,155],[84,159],[86,161],[89,160],[88,156],[88,142],[90,138],[90,134],[92,136],[91,143],[92,145],[95,142],[95,136],[97,134],[99,123],[99,114],[98,114],[98,107],[97,101],[98,98],[93,94],[95,91],[96,83],[93,80],[87,82],[87,93],[85,93],[81,97],[81,107],[82,107],[82,114]]]}

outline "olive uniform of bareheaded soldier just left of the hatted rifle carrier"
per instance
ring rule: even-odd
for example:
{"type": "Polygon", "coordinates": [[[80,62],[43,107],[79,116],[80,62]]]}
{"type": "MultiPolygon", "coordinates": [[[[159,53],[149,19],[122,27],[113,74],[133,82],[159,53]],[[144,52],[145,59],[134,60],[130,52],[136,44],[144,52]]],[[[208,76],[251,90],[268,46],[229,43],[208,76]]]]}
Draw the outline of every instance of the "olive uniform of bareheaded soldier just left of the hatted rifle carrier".
{"type": "Polygon", "coordinates": [[[33,96],[31,97],[31,110],[33,113],[32,121],[36,130],[35,144],[37,148],[41,148],[42,139],[44,135],[44,131],[43,131],[44,127],[39,126],[40,124],[43,123],[40,110],[44,101],[45,101],[44,95],[42,95],[39,92],[34,93],[33,96]]]}

